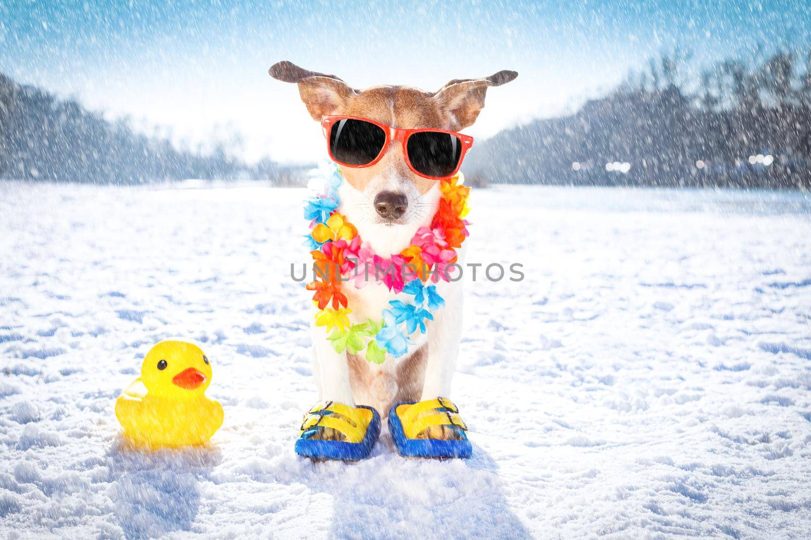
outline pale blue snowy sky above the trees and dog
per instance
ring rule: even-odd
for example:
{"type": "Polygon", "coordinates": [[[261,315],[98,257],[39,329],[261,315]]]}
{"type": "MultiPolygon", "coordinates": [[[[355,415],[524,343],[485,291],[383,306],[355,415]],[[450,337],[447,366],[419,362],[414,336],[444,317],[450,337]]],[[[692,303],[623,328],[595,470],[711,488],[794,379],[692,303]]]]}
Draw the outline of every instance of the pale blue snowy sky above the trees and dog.
{"type": "Polygon", "coordinates": [[[676,47],[696,64],[811,43],[801,0],[739,2],[30,2],[0,4],[0,70],[109,117],[164,125],[174,138],[238,130],[245,153],[314,161],[320,131],[294,85],[271,79],[290,60],[354,87],[512,69],[491,89],[474,136],[575,107],[647,57],[676,47]]]}

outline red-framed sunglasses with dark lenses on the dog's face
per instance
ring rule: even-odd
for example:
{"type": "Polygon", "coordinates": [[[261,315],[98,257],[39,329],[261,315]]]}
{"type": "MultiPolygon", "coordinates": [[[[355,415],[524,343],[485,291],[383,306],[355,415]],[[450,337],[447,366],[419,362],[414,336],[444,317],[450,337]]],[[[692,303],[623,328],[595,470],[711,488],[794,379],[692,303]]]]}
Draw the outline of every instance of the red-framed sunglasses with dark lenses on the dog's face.
{"type": "Polygon", "coordinates": [[[393,141],[402,144],[405,163],[419,176],[448,180],[461,167],[473,137],[455,131],[419,128],[401,130],[361,117],[321,119],[330,159],[344,167],[371,167],[393,141]]]}

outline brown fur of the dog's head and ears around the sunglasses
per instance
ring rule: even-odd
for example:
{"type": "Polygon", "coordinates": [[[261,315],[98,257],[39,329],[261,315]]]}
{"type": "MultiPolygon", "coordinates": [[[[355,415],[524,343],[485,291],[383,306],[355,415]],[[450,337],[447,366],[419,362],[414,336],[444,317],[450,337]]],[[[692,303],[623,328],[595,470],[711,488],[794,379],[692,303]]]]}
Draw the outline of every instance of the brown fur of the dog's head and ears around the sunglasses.
{"type": "MultiPolygon", "coordinates": [[[[484,107],[487,87],[500,86],[517,77],[515,71],[499,71],[482,79],[453,79],[439,91],[414,87],[380,86],[358,91],[335,75],[304,70],[291,62],[278,62],[269,70],[272,77],[297,83],[311,117],[320,121],[331,114],[369,118],[397,128],[462,130],[474,123],[484,107]]],[[[426,193],[436,181],[412,172],[405,164],[401,144],[390,144],[384,156],[371,167],[342,168],[346,181],[363,191],[383,172],[409,178],[419,193],[426,193]]]]}

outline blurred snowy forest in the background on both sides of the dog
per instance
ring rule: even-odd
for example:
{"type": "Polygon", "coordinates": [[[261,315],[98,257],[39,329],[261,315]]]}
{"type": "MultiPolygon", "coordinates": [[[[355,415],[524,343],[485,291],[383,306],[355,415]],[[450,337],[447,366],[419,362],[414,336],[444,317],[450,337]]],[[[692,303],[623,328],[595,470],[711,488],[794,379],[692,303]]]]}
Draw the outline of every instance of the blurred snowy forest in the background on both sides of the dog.
{"type": "MultiPolygon", "coordinates": [[[[136,184],[269,179],[303,168],[249,165],[225,142],[178,148],[126,120],[0,74],[0,178],[136,184]]],[[[671,53],[571,116],[539,119],[478,142],[471,183],[811,187],[811,52],[727,60],[695,70],[671,53]]]]}

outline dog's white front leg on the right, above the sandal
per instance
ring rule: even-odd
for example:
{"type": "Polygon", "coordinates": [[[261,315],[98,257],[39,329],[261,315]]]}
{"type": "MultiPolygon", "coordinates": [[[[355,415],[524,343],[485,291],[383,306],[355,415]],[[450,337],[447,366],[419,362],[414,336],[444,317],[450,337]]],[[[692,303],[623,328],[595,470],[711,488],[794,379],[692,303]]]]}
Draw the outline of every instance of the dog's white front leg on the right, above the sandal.
{"type": "Polygon", "coordinates": [[[441,291],[445,307],[434,316],[428,330],[428,362],[422,400],[450,398],[461,339],[461,283],[447,283],[441,291]]]}

